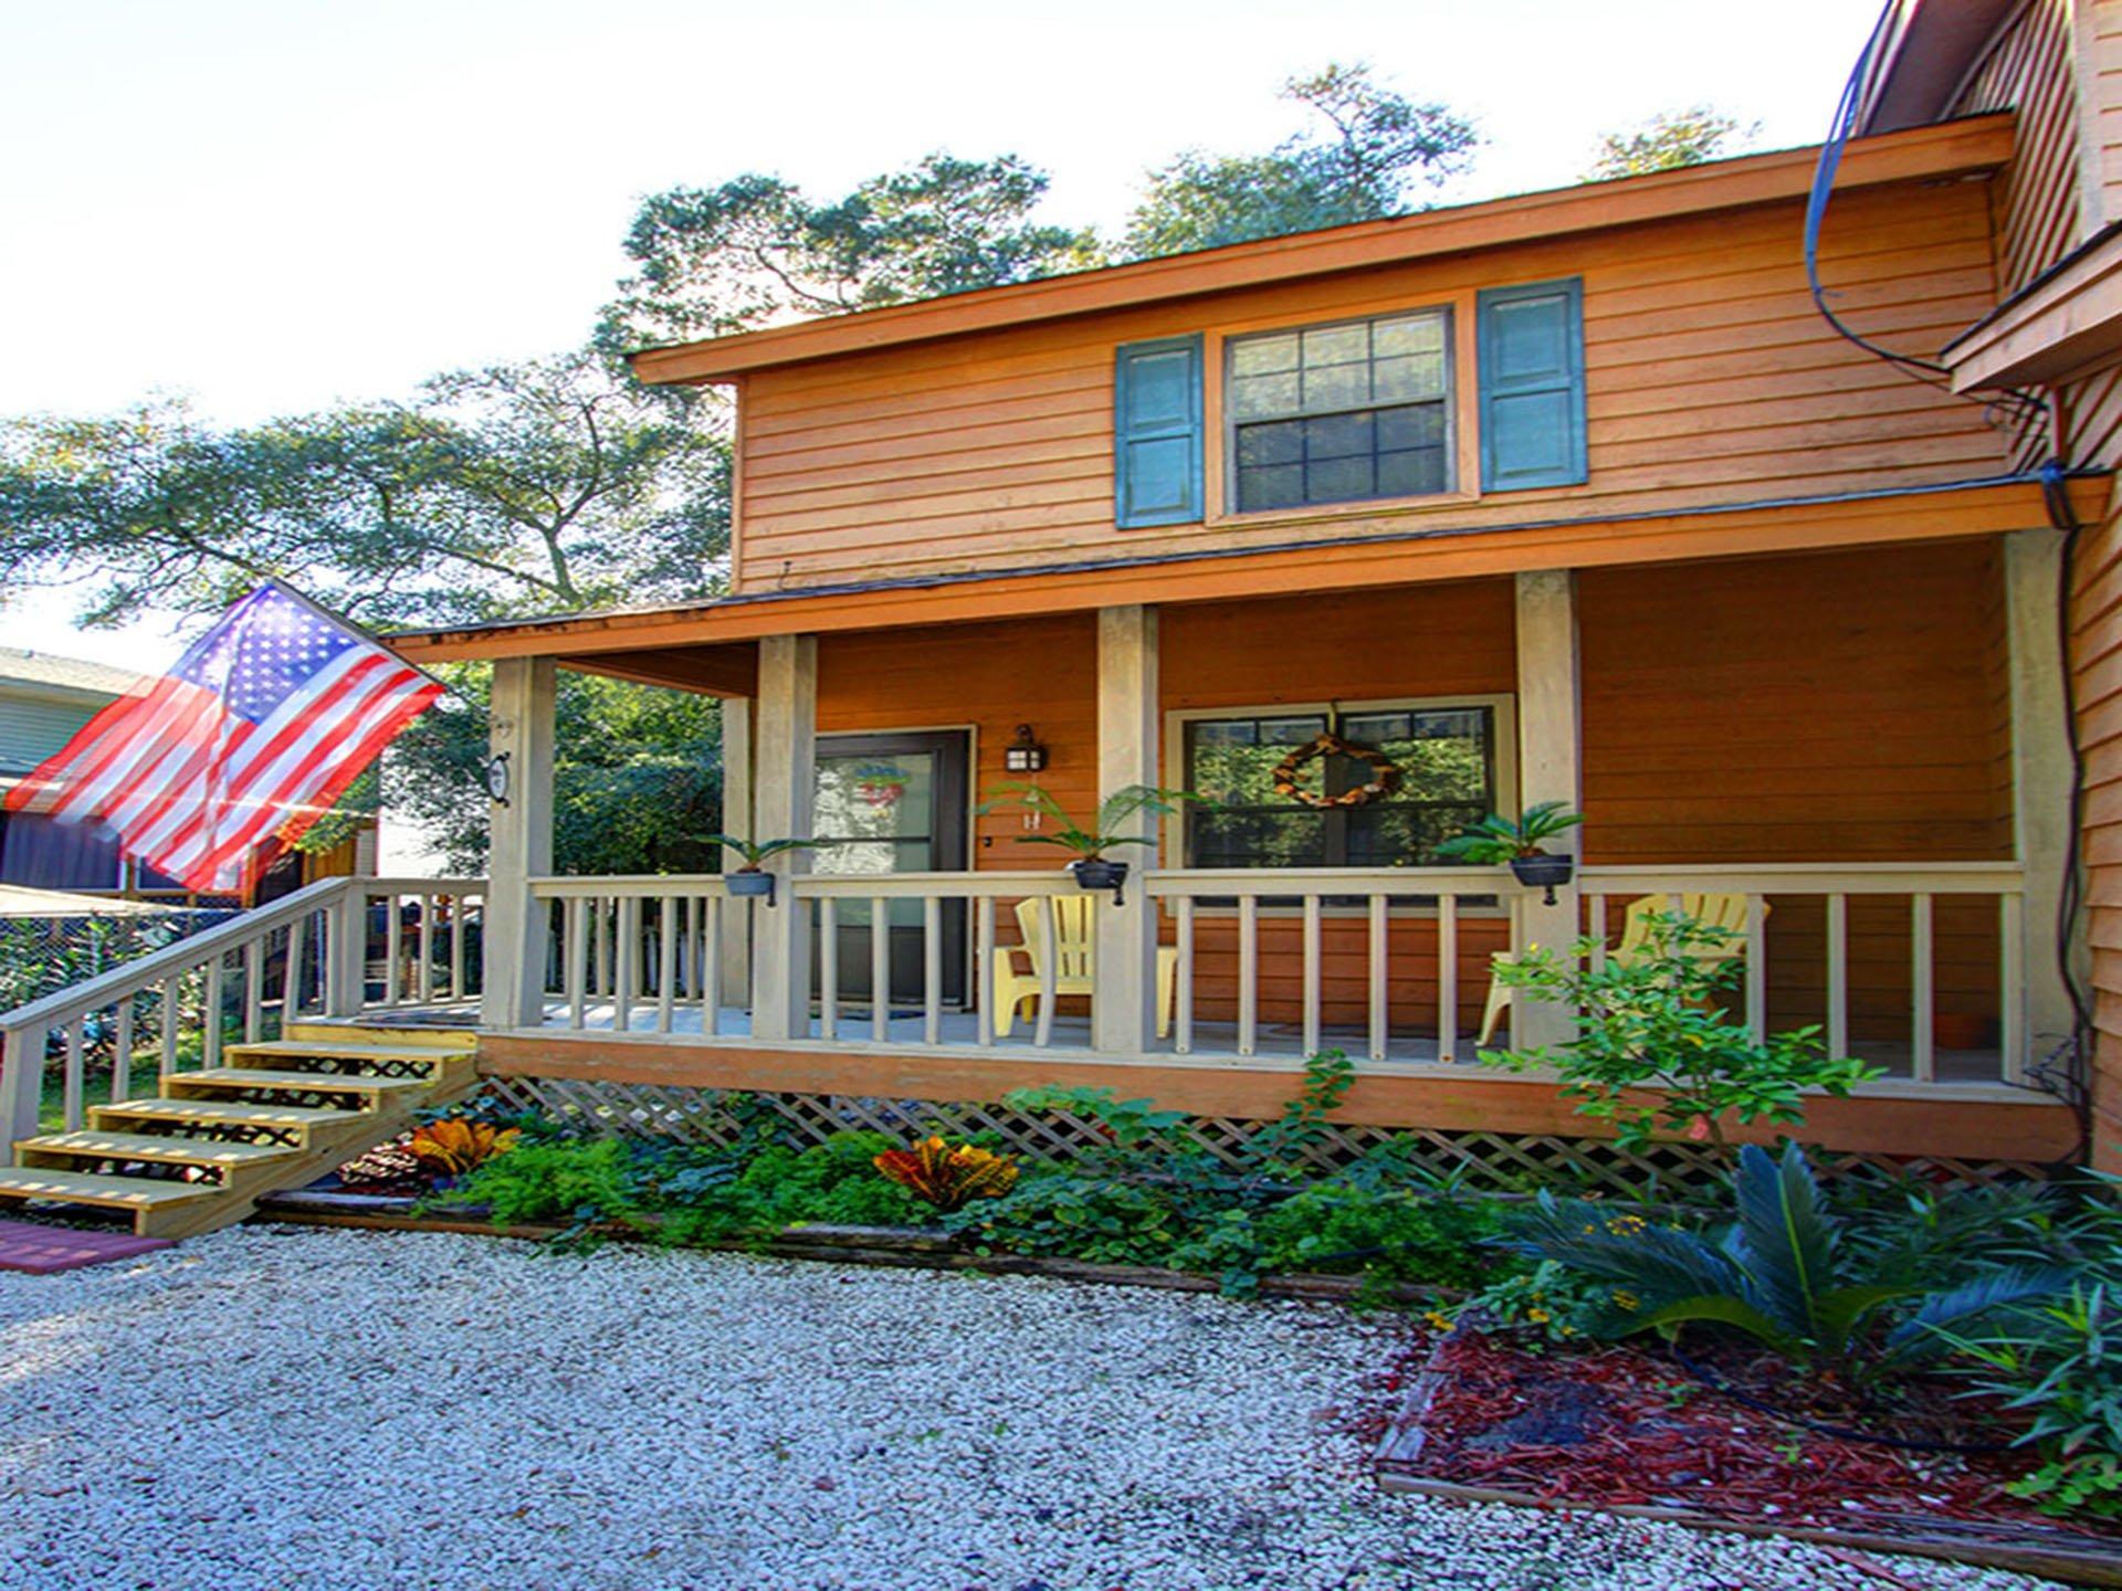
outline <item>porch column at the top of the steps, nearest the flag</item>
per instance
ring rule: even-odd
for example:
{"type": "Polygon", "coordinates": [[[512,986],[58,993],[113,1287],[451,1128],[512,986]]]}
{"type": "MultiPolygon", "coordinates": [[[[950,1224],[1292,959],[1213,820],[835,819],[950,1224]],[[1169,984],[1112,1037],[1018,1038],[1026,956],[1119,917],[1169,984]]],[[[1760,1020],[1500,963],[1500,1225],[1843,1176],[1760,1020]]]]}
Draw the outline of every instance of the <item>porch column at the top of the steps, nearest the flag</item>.
{"type": "Polygon", "coordinates": [[[545,921],[528,880],[552,872],[554,683],[552,658],[494,664],[488,747],[509,759],[509,798],[488,808],[482,1027],[545,1020],[545,921]]]}

